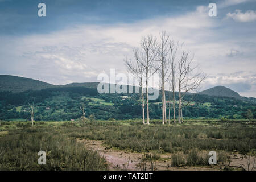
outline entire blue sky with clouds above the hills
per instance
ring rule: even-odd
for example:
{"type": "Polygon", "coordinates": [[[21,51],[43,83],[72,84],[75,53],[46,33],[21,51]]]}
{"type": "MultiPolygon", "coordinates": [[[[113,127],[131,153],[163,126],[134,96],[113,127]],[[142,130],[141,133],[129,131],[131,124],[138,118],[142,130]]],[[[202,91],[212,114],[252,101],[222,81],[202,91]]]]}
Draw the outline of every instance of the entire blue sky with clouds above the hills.
{"type": "Polygon", "coordinates": [[[194,54],[207,79],[256,97],[256,0],[0,0],[0,75],[49,82],[93,82],[126,73],[143,36],[166,31],[194,54]],[[46,4],[46,17],[38,4],[46,4]],[[210,17],[209,3],[217,16],[210,17]]]}

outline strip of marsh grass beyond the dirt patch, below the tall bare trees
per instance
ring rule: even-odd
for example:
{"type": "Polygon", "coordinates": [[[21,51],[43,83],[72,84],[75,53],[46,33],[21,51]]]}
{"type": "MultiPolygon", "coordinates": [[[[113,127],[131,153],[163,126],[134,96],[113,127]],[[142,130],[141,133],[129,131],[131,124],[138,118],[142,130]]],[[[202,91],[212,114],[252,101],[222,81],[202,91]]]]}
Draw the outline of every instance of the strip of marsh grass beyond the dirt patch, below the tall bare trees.
{"type": "Polygon", "coordinates": [[[255,124],[249,127],[245,122],[229,122],[224,125],[220,121],[202,121],[162,126],[160,121],[155,120],[151,121],[150,126],[143,126],[141,121],[96,121],[79,129],[69,126],[65,133],[75,138],[104,140],[108,146],[138,152],[141,152],[142,143],[151,146],[152,136],[160,142],[164,152],[198,148],[245,154],[249,152],[249,145],[256,148],[255,124]]]}

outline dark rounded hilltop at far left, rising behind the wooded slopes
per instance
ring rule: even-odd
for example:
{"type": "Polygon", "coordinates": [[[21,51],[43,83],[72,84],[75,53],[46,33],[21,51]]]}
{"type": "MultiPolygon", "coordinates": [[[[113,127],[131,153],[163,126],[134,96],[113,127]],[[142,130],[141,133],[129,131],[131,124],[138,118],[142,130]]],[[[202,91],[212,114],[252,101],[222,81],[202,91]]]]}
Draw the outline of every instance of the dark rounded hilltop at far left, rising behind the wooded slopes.
{"type": "Polygon", "coordinates": [[[24,78],[11,75],[0,75],[0,92],[23,92],[26,90],[41,90],[51,88],[54,85],[48,84],[43,81],[33,80],[30,78],[24,78]]]}

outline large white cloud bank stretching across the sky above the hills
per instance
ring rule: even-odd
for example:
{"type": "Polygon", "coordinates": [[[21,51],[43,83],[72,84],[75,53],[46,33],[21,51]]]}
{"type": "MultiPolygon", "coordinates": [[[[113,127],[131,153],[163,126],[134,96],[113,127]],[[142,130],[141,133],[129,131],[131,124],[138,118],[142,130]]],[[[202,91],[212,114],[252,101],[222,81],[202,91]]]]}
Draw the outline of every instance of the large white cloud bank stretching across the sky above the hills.
{"type": "MultiPolygon", "coordinates": [[[[9,71],[8,74],[52,84],[97,81],[98,73],[108,73],[110,68],[125,73],[123,57],[133,57],[132,48],[139,46],[142,36],[148,33],[158,36],[159,31],[166,30],[195,53],[195,60],[205,73],[216,77],[205,81],[203,87],[249,82],[227,76],[238,70],[255,72],[255,34],[241,34],[234,39],[233,29],[224,23],[209,17],[208,7],[199,6],[196,11],[174,17],[108,26],[79,25],[49,34],[0,38],[0,72],[9,71]],[[246,46],[249,42],[250,46],[246,46]]],[[[251,96],[256,96],[256,88],[252,89],[255,92],[250,91],[251,96]]]]}

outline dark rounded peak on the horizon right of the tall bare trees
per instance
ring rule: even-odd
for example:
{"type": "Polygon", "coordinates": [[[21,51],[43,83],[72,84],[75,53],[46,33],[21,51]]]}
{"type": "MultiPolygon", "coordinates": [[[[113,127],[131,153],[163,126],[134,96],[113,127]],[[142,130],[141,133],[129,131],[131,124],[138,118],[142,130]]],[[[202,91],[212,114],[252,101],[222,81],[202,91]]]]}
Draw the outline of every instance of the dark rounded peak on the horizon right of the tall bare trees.
{"type": "Polygon", "coordinates": [[[238,99],[243,98],[242,96],[240,96],[240,94],[238,94],[237,92],[234,92],[229,88],[226,88],[225,86],[215,86],[213,88],[199,92],[198,94],[208,95],[208,96],[234,97],[238,99]]]}

